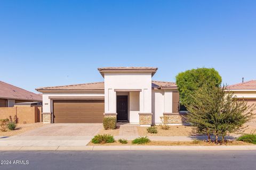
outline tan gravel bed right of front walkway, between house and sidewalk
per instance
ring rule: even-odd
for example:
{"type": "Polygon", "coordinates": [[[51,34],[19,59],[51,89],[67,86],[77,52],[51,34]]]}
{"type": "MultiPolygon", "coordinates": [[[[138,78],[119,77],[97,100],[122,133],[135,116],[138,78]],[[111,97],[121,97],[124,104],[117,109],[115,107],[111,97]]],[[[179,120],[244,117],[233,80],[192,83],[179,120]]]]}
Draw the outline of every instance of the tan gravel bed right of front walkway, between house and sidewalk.
{"type": "Polygon", "coordinates": [[[192,126],[177,125],[170,126],[169,130],[163,130],[160,126],[157,126],[157,133],[148,133],[147,127],[137,127],[140,136],[188,136],[193,135],[192,126]]]}

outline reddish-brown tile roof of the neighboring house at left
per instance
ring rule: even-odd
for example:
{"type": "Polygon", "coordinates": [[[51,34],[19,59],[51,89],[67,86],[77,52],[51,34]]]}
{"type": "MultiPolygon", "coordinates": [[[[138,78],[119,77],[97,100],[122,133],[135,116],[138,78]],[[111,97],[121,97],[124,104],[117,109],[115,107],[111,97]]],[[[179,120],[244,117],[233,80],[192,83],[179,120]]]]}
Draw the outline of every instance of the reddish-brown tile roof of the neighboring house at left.
{"type": "Polygon", "coordinates": [[[42,96],[0,81],[0,98],[42,101],[42,96]]]}

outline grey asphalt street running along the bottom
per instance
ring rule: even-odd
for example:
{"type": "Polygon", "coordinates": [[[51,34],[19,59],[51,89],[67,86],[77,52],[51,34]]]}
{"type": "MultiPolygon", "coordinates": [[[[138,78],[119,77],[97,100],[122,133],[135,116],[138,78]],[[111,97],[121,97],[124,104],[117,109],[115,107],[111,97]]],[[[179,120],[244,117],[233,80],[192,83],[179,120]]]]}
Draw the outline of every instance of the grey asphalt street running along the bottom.
{"type": "Polygon", "coordinates": [[[256,169],[256,151],[1,151],[0,169],[256,169]]]}

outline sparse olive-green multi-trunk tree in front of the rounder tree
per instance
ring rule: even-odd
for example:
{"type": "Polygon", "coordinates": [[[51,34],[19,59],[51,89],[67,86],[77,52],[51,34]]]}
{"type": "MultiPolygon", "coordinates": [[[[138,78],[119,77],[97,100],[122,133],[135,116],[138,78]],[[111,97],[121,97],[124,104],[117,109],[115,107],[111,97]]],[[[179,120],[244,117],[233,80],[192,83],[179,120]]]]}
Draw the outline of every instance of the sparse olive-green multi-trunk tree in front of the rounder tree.
{"type": "Polygon", "coordinates": [[[227,134],[239,133],[246,127],[244,123],[253,117],[255,105],[247,106],[246,101],[240,101],[226,87],[204,85],[193,96],[193,103],[186,105],[189,114],[188,121],[198,133],[215,135],[215,143],[221,136],[222,142],[227,134]]]}

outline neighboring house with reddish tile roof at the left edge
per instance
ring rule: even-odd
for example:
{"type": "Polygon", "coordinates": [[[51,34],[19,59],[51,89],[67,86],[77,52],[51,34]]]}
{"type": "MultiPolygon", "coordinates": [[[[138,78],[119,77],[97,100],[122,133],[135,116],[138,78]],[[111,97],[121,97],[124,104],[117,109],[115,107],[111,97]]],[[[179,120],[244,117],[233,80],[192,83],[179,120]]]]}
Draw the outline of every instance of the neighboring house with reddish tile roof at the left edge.
{"type": "Polygon", "coordinates": [[[42,101],[42,96],[0,81],[0,107],[13,107],[27,101],[42,101]]]}

